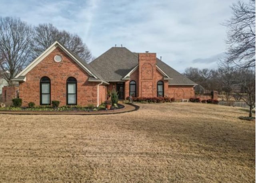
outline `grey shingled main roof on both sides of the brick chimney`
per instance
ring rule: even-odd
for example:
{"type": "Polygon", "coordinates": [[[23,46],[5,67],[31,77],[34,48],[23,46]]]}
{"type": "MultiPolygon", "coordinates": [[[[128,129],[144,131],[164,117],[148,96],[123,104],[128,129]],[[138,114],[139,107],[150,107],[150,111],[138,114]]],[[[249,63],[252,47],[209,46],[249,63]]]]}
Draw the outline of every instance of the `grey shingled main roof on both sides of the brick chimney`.
{"type": "MultiPolygon", "coordinates": [[[[131,52],[126,47],[112,47],[90,65],[108,82],[126,80],[138,68],[138,53],[131,52]]],[[[164,80],[168,80],[169,85],[196,85],[158,58],[156,68],[162,73],[164,80]]]]}

